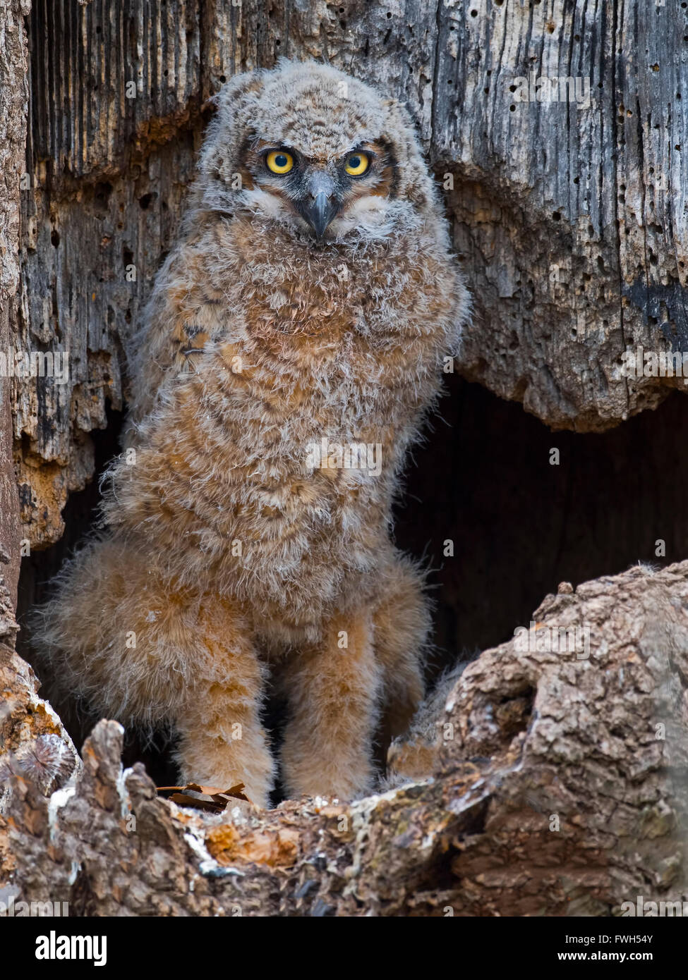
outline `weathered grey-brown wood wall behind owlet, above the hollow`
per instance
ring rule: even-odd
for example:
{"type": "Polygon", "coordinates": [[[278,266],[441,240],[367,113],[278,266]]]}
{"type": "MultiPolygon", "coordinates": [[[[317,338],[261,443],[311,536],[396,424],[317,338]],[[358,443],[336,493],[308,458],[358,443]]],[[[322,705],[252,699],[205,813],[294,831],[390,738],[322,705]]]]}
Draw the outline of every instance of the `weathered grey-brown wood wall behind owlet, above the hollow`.
{"type": "Polygon", "coordinates": [[[641,0],[35,0],[18,343],[68,351],[71,376],[15,388],[32,545],[60,537],[89,433],[122,406],[207,100],[281,55],[329,60],[413,112],[476,297],[466,377],[582,431],[682,389],[622,377],[620,357],[688,343],[685,36],[688,10],[641,0]]]}

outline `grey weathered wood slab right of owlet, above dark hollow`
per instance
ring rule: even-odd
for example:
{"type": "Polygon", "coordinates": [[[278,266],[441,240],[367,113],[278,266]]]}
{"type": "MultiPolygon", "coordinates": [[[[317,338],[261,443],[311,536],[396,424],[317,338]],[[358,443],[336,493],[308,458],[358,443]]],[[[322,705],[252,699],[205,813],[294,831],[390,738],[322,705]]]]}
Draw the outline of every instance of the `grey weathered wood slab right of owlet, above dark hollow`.
{"type": "Polygon", "coordinates": [[[455,241],[480,298],[464,374],[554,428],[657,406],[683,378],[619,368],[638,345],[688,349],[686,10],[447,6],[435,91],[448,86],[458,112],[435,103],[432,152],[463,181],[455,241]],[[589,104],[514,101],[514,76],[531,72],[578,78],[581,94],[589,79],[589,104]]]}

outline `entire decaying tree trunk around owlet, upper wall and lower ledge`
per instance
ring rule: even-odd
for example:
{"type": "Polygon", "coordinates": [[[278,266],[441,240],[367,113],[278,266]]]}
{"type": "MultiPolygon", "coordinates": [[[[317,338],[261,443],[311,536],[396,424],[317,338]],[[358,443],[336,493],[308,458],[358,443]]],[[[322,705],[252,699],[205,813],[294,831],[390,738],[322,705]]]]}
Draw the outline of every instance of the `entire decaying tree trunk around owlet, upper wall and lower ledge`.
{"type": "Polygon", "coordinates": [[[546,600],[536,619],[592,624],[586,659],[518,652],[512,633],[560,578],[686,554],[674,431],[688,403],[673,394],[626,421],[684,379],[626,376],[622,355],[688,350],[688,12],[641,0],[5,0],[2,16],[0,351],[50,354],[53,376],[0,378],[0,765],[12,784],[0,886],[47,889],[86,914],[607,914],[634,889],[685,895],[675,775],[688,565],[546,600]],[[12,653],[11,613],[20,554],[24,623],[88,528],[208,100],[282,55],[329,61],[405,102],[445,190],[475,313],[443,405],[453,428],[436,424],[410,472],[397,539],[437,569],[443,662],[507,642],[466,667],[453,708],[442,688],[394,747],[401,775],[432,769],[434,782],[233,822],[156,800],[140,768],[120,779],[113,722],[79,770],[12,653]],[[487,391],[550,429],[623,425],[553,436],[487,391]],[[438,718],[453,733],[440,743],[423,735],[438,718]],[[39,777],[36,750],[49,760],[39,777]],[[47,809],[57,784],[69,790],[47,809]]]}

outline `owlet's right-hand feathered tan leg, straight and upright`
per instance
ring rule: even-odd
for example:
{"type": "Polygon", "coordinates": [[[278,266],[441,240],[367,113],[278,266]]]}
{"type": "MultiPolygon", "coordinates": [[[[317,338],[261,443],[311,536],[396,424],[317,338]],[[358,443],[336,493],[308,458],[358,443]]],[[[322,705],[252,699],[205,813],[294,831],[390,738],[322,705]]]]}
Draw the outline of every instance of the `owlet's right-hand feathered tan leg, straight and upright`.
{"type": "Polygon", "coordinates": [[[288,794],[350,800],[372,788],[380,668],[369,611],[340,613],[323,639],[293,655],[284,684],[290,720],[282,749],[288,794]]]}

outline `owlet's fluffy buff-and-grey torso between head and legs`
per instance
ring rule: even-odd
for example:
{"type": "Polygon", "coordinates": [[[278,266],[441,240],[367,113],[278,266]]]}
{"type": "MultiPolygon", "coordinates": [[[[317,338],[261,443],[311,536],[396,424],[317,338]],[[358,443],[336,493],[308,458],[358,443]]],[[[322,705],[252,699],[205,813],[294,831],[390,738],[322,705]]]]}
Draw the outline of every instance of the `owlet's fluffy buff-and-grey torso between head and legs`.
{"type": "Polygon", "coordinates": [[[156,284],[136,463],[115,467],[108,519],[183,583],[207,574],[254,608],[317,618],[389,552],[403,454],[464,302],[442,221],[352,250],[207,218],[156,284]],[[379,446],[380,472],[314,466],[323,439],[379,446]]]}

